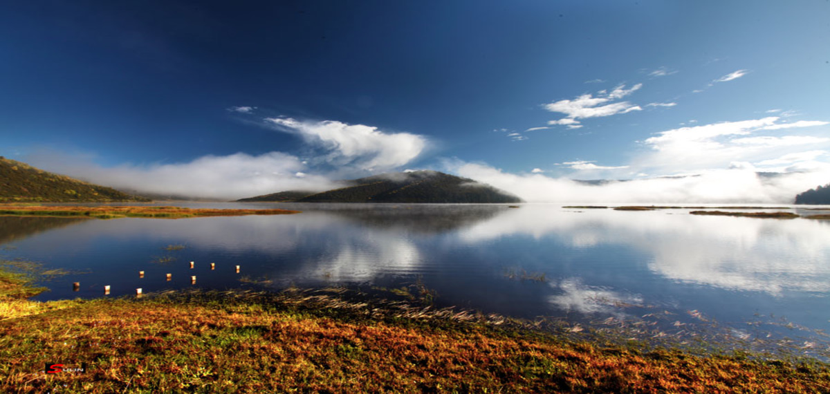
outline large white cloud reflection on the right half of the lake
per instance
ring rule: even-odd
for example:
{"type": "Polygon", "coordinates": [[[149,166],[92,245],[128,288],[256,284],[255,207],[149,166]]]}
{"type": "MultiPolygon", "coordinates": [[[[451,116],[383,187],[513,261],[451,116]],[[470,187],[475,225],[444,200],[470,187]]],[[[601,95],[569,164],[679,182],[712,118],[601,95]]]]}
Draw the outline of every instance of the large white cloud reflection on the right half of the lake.
{"type": "Polygon", "coordinates": [[[507,236],[555,239],[575,248],[622,245],[649,255],[671,280],[782,294],[830,291],[830,226],[807,219],[692,216],[688,210],[617,212],[525,206],[460,234],[471,243],[507,236]]]}

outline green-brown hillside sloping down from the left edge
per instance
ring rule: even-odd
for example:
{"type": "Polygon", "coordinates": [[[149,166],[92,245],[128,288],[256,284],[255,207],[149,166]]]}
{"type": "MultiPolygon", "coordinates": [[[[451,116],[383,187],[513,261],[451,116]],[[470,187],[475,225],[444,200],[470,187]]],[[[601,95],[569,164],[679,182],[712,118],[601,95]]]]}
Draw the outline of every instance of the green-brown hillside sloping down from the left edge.
{"type": "Polygon", "coordinates": [[[149,201],[0,156],[0,202],[149,201]]]}

